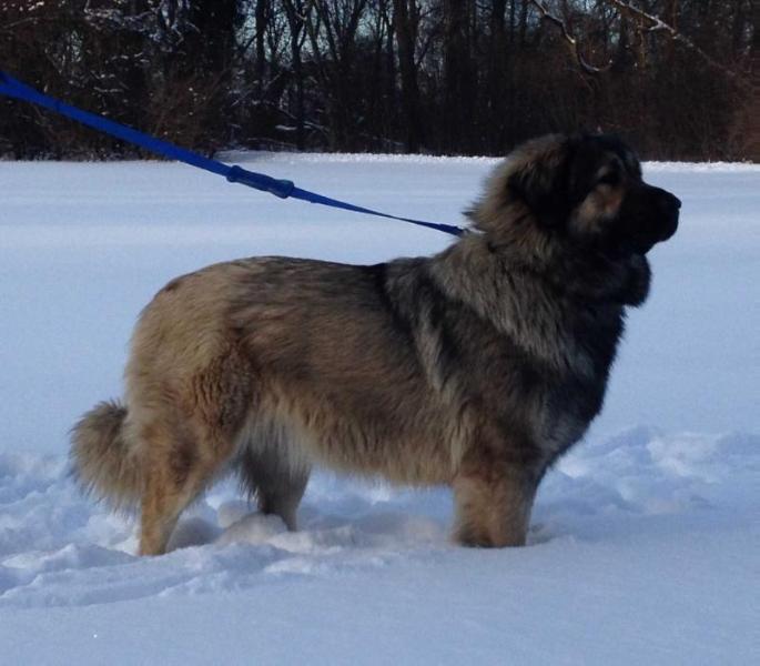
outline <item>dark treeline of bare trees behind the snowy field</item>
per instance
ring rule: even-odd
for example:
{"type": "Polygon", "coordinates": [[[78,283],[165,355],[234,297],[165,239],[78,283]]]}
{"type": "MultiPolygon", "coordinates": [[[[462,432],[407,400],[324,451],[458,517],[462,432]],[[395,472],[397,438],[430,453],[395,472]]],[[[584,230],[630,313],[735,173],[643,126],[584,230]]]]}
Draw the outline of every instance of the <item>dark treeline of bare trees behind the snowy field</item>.
{"type": "MultiPolygon", "coordinates": [[[[586,129],[757,160],[756,19],[752,0],[3,0],[0,68],[206,152],[501,154],[586,129]]],[[[0,100],[0,154],[134,149],[0,100]]]]}

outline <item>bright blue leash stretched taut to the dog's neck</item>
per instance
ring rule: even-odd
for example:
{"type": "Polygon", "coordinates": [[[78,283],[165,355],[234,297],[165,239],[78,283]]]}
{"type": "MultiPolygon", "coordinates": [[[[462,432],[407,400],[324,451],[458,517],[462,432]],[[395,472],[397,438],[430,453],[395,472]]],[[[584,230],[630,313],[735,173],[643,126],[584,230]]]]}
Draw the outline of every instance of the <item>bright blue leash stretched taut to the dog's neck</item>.
{"type": "Polygon", "coordinates": [[[316,194],[315,192],[310,192],[308,190],[302,190],[296,188],[293,181],[278,180],[264,173],[255,173],[243,169],[242,167],[230,167],[216,160],[211,160],[204,158],[191,150],[185,150],[179,145],[174,145],[166,141],[161,141],[155,137],[150,137],[143,134],[138,130],[128,128],[126,125],[113,122],[97,115],[94,113],[88,113],[82,111],[77,107],[71,107],[57,100],[54,98],[48,97],[21,83],[17,79],[8,75],[6,72],[0,70],[0,94],[4,94],[10,98],[18,100],[23,100],[55,111],[61,115],[65,115],[72,120],[81,122],[88,127],[91,127],[100,132],[105,132],[111,134],[116,139],[126,141],[129,143],[134,143],[140,148],[149,150],[151,152],[169,158],[170,160],[178,160],[190,164],[192,167],[197,167],[199,169],[205,169],[212,173],[223,175],[231,183],[241,183],[253,188],[254,190],[261,190],[262,192],[268,192],[280,199],[300,199],[302,201],[307,201],[308,203],[320,203],[322,205],[328,205],[332,208],[343,209],[345,211],[353,211],[356,213],[365,213],[367,215],[377,215],[379,218],[387,218],[388,220],[401,220],[402,222],[411,222],[412,224],[417,224],[419,226],[427,226],[428,229],[435,229],[437,231],[443,231],[444,233],[450,233],[452,235],[462,235],[465,230],[459,226],[454,226],[453,224],[436,224],[435,222],[424,222],[422,220],[412,220],[409,218],[399,218],[397,215],[391,215],[388,213],[381,213],[379,211],[373,211],[361,205],[354,205],[353,203],[347,203],[345,201],[340,201],[337,199],[331,199],[330,196],[323,196],[322,194],[316,194]]]}

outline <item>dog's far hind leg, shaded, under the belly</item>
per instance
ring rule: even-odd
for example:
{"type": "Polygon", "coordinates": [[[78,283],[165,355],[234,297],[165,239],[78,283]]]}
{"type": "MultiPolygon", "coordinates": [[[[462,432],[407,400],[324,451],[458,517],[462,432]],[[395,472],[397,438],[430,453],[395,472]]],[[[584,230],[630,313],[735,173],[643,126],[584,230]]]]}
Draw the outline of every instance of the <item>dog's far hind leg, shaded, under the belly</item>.
{"type": "Polygon", "coordinates": [[[256,497],[259,511],[280,516],[296,529],[296,511],[311,473],[311,463],[292,448],[283,433],[262,440],[251,437],[243,446],[240,477],[243,488],[256,497]]]}

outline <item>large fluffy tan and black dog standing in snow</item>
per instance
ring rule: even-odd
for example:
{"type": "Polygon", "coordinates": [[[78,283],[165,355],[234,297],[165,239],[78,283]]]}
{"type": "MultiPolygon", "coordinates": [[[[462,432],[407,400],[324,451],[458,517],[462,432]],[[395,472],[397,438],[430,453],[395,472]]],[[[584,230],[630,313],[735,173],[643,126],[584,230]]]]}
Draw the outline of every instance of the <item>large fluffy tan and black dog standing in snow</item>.
{"type": "Polygon", "coordinates": [[[264,258],[179,278],[132,340],[125,405],[73,430],[83,485],[140,506],[140,552],[234,467],[295,528],[313,464],[448,484],[455,537],[525,543],[548,465],[599,412],[645,258],[680,202],[609,137],[545,137],[496,169],[445,252],[357,266],[264,258]]]}

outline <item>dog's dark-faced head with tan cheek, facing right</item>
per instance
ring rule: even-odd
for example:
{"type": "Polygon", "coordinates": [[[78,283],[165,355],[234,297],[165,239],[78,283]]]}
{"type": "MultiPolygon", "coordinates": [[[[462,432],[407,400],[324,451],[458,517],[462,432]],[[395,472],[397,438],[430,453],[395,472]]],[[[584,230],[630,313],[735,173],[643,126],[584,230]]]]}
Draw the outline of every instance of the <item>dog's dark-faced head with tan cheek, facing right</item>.
{"type": "Polygon", "coordinates": [[[576,249],[629,256],[669,239],[680,205],[644,182],[637,157],[620,140],[550,134],[507,158],[470,216],[483,231],[513,235],[516,221],[528,215],[541,233],[576,249]]]}

